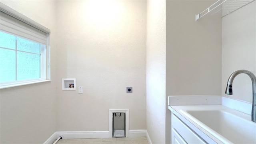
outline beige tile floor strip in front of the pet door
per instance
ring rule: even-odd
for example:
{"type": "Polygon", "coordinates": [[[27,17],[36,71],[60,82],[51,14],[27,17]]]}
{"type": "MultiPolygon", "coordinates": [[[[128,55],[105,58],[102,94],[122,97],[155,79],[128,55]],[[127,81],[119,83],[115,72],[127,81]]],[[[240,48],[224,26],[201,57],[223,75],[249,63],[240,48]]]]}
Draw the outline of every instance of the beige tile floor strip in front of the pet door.
{"type": "Polygon", "coordinates": [[[57,144],[148,144],[146,137],[101,138],[101,139],[60,139],[57,144]]]}

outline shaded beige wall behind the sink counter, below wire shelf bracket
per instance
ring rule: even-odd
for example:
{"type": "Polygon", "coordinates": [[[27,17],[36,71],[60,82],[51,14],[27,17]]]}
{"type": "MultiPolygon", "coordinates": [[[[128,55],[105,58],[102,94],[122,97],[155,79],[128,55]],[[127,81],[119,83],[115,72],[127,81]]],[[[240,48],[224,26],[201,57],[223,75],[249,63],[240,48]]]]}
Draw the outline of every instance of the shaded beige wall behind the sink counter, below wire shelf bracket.
{"type": "Polygon", "coordinates": [[[221,16],[199,14],[213,0],[166,1],[166,142],[170,142],[168,97],[221,94],[221,16]]]}

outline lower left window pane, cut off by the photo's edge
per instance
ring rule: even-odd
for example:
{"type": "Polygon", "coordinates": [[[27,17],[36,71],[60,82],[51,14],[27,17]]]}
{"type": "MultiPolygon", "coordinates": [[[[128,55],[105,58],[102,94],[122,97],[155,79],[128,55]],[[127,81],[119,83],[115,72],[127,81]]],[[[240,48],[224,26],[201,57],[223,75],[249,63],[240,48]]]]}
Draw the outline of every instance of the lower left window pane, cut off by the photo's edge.
{"type": "Polygon", "coordinates": [[[15,51],[0,48],[0,82],[15,80],[15,51]]]}

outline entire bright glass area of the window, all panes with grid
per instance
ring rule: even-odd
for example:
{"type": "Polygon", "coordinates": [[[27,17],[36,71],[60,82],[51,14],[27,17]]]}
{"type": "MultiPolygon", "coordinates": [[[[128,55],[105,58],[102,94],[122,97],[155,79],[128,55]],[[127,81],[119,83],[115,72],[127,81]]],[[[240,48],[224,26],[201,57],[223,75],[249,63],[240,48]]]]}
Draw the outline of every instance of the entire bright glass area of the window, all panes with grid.
{"type": "Polygon", "coordinates": [[[0,82],[40,79],[45,45],[0,32],[0,82]]]}

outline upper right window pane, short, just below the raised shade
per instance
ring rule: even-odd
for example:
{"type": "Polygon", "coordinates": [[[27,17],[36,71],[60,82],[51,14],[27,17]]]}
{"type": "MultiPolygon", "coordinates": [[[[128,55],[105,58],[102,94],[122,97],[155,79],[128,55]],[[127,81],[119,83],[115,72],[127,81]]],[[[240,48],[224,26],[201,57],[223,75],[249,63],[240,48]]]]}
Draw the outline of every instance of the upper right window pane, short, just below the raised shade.
{"type": "Polygon", "coordinates": [[[17,50],[40,54],[40,44],[17,37],[17,50]]]}

